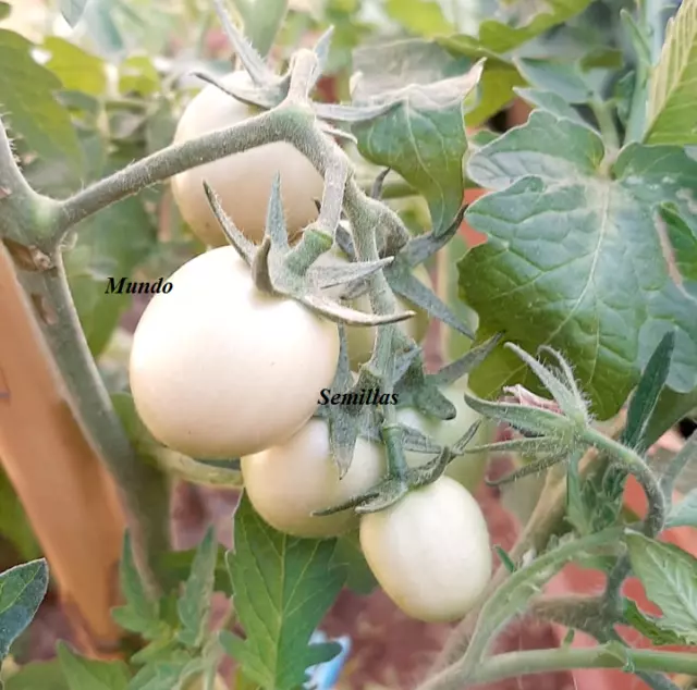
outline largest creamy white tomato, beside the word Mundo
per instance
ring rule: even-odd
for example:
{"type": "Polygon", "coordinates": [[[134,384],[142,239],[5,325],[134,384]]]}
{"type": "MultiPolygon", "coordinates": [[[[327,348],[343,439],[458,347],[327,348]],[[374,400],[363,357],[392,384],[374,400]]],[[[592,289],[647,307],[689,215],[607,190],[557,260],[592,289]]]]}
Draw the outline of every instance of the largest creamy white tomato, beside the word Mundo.
{"type": "Polygon", "coordinates": [[[337,325],[259,292],[233,247],[197,256],[169,282],[131,352],[133,399],[152,435],[207,459],[290,439],[334,378],[337,325]]]}

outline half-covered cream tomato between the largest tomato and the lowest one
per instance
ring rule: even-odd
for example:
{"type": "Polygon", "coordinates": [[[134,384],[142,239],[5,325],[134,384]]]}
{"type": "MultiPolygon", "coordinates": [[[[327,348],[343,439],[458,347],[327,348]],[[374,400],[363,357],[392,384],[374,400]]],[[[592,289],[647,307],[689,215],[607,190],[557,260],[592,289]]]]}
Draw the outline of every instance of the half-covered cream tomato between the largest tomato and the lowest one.
{"type": "Polygon", "coordinates": [[[242,458],[245,491],[256,512],[280,532],[316,539],[356,527],[358,517],[353,510],[313,517],[314,510],[370,489],[384,471],[383,446],[358,438],[351,467],[340,480],[323,419],[310,419],[285,443],[242,458]]]}

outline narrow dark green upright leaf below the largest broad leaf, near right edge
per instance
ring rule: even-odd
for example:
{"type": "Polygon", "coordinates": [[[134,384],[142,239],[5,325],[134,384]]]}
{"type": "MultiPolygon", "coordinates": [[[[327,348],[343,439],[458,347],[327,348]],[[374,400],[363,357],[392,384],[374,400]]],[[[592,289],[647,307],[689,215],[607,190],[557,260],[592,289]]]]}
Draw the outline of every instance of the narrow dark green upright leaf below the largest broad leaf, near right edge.
{"type": "Polygon", "coordinates": [[[646,443],[646,430],[665,385],[674,348],[675,333],[669,331],[651,355],[629,401],[627,421],[621,441],[629,447],[638,448],[640,453],[647,451],[650,445],[646,443]]]}

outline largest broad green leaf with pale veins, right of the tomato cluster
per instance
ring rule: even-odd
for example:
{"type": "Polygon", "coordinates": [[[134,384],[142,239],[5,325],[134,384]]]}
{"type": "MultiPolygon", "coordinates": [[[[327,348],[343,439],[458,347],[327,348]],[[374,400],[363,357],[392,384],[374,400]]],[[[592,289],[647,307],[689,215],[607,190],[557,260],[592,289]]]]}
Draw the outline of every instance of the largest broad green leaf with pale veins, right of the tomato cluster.
{"type": "MultiPolygon", "coordinates": [[[[458,263],[461,296],[480,318],[477,340],[502,331],[528,353],[543,344],[564,353],[601,419],[625,402],[670,328],[667,383],[678,392],[697,385],[696,305],[683,283],[697,254],[664,245],[658,217],[672,202],[683,222],[694,219],[697,160],[631,145],[607,175],[603,159],[597,133],[540,110],[478,149],[468,174],[496,192],[466,220],[489,242],[458,263]]],[[[511,383],[539,390],[501,346],[469,379],[481,396],[511,383]]]]}

